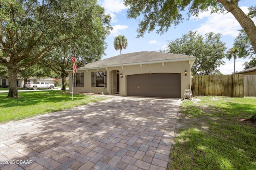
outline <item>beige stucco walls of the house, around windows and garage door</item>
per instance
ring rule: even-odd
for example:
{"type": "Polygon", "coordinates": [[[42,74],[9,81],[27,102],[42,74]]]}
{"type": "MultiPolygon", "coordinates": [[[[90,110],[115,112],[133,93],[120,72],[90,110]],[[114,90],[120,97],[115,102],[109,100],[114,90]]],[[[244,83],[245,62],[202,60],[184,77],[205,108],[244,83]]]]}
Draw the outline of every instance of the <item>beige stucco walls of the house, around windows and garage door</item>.
{"type": "MultiPolygon", "coordinates": [[[[181,94],[183,96],[184,89],[190,88],[191,73],[190,69],[194,61],[181,61],[170,63],[156,63],[156,64],[137,64],[130,66],[114,66],[102,69],[92,70],[78,70],[78,72],[84,72],[84,87],[74,87],[74,92],[88,92],[88,93],[104,93],[114,94],[116,93],[116,71],[119,70],[123,78],[120,78],[120,95],[126,96],[126,77],[133,74],[150,74],[150,73],[178,73],[181,75],[181,94]],[[187,70],[187,76],[184,71],[187,70]],[[91,72],[103,71],[107,72],[107,87],[91,87],[91,72]]],[[[72,92],[72,72],[69,72],[69,91],[72,92]]]]}

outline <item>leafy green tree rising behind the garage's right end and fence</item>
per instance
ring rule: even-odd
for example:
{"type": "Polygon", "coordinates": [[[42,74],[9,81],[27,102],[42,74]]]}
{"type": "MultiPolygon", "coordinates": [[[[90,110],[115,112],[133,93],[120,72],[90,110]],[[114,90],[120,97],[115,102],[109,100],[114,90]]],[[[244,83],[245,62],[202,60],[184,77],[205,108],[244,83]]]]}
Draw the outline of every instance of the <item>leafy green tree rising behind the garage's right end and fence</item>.
{"type": "MultiPolygon", "coordinates": [[[[192,75],[219,74],[217,69],[225,57],[225,43],[220,41],[221,34],[207,33],[199,35],[197,31],[189,31],[174,41],[168,42],[164,52],[195,56],[196,60],[191,68],[192,75]]],[[[162,51],[163,52],[163,51],[162,51]]]]}

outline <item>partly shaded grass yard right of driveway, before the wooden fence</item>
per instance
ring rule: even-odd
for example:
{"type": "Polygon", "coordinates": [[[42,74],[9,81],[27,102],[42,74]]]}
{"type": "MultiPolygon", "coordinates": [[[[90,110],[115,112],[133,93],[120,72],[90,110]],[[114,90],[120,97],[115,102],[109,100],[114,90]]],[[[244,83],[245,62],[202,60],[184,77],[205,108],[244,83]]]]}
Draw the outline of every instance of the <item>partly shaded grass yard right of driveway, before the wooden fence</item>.
{"type": "Polygon", "coordinates": [[[182,102],[168,170],[256,170],[254,114],[254,97],[182,102]]]}

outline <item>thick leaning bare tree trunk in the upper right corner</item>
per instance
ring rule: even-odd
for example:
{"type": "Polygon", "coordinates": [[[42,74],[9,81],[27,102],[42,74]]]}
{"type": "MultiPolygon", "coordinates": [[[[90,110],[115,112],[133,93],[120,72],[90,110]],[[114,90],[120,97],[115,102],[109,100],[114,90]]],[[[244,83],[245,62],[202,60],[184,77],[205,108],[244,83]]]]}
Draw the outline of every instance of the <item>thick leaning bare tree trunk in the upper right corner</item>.
{"type": "Polygon", "coordinates": [[[237,2],[230,2],[228,0],[218,0],[225,8],[233,14],[236,20],[244,28],[248,38],[251,41],[252,47],[256,53],[256,26],[254,22],[244,14],[244,12],[239,8],[237,2]]]}

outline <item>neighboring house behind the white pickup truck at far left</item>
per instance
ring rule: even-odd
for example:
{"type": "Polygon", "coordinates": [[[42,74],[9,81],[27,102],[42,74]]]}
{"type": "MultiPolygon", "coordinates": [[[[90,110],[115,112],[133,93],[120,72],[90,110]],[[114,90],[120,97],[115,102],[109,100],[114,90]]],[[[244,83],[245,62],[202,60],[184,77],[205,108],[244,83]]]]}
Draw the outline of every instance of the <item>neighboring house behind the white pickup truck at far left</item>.
{"type": "MultiPolygon", "coordinates": [[[[36,82],[48,82],[48,83],[54,83],[53,78],[36,78],[36,77],[31,77],[28,78],[27,84],[34,84],[36,82]]],[[[24,85],[24,79],[17,77],[17,86],[18,87],[23,87],[24,85]]],[[[1,87],[7,87],[8,86],[8,77],[0,77],[0,86],[1,87]]]]}

